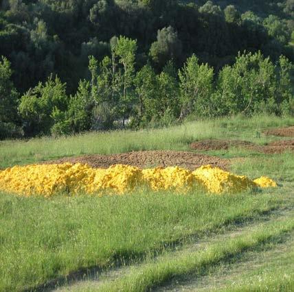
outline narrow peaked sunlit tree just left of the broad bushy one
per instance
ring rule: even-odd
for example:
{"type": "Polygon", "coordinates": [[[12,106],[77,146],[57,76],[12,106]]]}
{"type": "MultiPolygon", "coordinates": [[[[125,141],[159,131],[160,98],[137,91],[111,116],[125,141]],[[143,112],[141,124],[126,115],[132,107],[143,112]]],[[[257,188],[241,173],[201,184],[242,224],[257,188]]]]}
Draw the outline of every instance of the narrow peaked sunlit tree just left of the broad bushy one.
{"type": "Polygon", "coordinates": [[[179,70],[181,90],[181,119],[188,114],[209,117],[213,93],[214,70],[208,64],[199,65],[193,54],[179,70]]]}

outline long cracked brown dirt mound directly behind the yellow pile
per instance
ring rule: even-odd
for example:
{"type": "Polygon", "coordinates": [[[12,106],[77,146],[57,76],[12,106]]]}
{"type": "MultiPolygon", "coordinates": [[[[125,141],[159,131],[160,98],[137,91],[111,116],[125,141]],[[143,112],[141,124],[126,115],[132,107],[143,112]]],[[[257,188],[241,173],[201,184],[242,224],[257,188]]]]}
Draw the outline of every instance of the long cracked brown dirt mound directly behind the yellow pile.
{"type": "Polygon", "coordinates": [[[111,165],[123,164],[133,165],[139,168],[148,167],[183,167],[194,170],[201,165],[212,165],[227,170],[229,160],[203,154],[194,154],[184,151],[133,151],[124,154],[113,155],[88,155],[74,158],[61,158],[44,162],[45,164],[55,163],[87,163],[94,168],[108,168],[111,165]]]}

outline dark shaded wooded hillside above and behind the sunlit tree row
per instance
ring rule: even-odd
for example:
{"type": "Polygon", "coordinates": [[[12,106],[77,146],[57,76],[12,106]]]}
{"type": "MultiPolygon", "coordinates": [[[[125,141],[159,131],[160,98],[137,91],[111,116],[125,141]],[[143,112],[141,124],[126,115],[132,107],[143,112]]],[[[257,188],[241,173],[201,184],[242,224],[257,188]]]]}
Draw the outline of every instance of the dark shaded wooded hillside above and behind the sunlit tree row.
{"type": "Polygon", "coordinates": [[[150,62],[158,74],[192,53],[215,72],[244,50],[293,62],[293,30],[293,0],[0,0],[0,56],[21,95],[52,73],[74,94],[89,56],[111,55],[113,36],[136,39],[135,69],[150,62]]]}

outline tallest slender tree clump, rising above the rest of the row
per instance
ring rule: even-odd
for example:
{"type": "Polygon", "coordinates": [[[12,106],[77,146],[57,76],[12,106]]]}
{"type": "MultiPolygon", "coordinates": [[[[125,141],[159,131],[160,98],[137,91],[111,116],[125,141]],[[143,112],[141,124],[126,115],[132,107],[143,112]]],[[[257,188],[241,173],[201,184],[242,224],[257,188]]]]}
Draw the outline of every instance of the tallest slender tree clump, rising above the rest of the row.
{"type": "MultiPolygon", "coordinates": [[[[101,108],[103,105],[102,112],[109,110],[107,119],[122,119],[124,127],[135,102],[133,80],[137,41],[120,36],[112,38],[110,45],[111,58],[106,56],[99,66],[93,56],[90,58],[91,93],[96,106],[101,108]]],[[[96,114],[99,114],[99,111],[96,111],[96,114]]],[[[97,118],[100,120],[100,117],[97,118]]]]}

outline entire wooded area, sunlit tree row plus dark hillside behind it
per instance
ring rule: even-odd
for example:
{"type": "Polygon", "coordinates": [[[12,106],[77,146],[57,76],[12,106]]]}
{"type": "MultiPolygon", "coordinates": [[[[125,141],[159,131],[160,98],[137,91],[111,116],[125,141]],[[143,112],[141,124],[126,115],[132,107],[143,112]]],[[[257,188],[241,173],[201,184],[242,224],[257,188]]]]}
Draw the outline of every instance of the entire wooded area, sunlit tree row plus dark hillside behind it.
{"type": "Polygon", "coordinates": [[[0,0],[0,138],[290,114],[293,16],[293,0],[0,0]]]}

